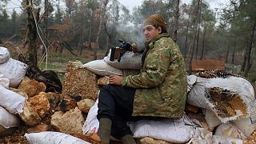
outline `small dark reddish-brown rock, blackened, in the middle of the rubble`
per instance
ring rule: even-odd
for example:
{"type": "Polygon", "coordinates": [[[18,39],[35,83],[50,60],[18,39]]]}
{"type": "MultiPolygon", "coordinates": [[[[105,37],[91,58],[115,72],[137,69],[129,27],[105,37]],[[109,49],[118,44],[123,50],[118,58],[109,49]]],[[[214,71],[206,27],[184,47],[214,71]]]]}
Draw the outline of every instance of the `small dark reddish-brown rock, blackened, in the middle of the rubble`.
{"type": "MultiPolygon", "coordinates": [[[[63,96],[62,101],[58,104],[58,107],[60,110],[68,111],[78,106],[77,101],[74,98],[71,98],[66,94],[62,94],[62,96],[63,96]]],[[[81,98],[79,98],[79,100],[80,99],[81,98]]]]}

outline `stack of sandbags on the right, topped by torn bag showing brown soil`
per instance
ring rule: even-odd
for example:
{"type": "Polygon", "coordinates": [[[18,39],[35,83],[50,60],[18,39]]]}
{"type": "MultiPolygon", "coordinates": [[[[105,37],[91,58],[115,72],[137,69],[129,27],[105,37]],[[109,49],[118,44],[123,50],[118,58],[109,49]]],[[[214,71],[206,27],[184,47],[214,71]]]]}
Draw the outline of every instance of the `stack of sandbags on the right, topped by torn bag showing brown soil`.
{"type": "Polygon", "coordinates": [[[187,103],[203,108],[210,130],[216,129],[213,142],[241,143],[256,130],[254,88],[249,81],[237,76],[188,79],[192,84],[187,103]]]}

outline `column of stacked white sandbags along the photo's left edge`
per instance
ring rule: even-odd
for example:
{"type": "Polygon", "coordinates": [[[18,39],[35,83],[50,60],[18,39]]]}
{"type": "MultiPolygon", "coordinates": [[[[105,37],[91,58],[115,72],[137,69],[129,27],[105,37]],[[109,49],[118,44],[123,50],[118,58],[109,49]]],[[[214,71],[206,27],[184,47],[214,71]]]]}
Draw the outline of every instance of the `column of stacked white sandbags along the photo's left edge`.
{"type": "Polygon", "coordinates": [[[9,50],[0,46],[0,135],[20,124],[18,114],[22,113],[25,98],[9,87],[18,87],[26,69],[25,63],[10,58],[9,50]]]}

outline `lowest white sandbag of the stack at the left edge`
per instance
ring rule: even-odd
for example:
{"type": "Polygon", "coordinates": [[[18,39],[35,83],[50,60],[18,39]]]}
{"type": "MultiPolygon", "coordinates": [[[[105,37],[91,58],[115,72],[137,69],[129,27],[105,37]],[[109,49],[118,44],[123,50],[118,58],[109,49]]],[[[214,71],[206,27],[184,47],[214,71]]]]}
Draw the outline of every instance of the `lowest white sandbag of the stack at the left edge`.
{"type": "Polygon", "coordinates": [[[18,126],[19,122],[19,118],[16,115],[10,114],[6,109],[0,106],[0,133],[10,127],[18,126]]]}

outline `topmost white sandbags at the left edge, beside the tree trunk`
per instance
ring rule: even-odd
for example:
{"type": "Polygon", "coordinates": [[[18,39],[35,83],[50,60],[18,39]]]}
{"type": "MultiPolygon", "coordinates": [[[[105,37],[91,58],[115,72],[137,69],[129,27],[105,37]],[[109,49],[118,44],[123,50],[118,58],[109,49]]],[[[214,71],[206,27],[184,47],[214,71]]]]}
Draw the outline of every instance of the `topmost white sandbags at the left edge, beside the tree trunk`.
{"type": "Polygon", "coordinates": [[[10,53],[5,47],[0,46],[0,74],[2,78],[10,80],[10,87],[16,88],[26,74],[27,65],[10,58],[10,53]]]}

